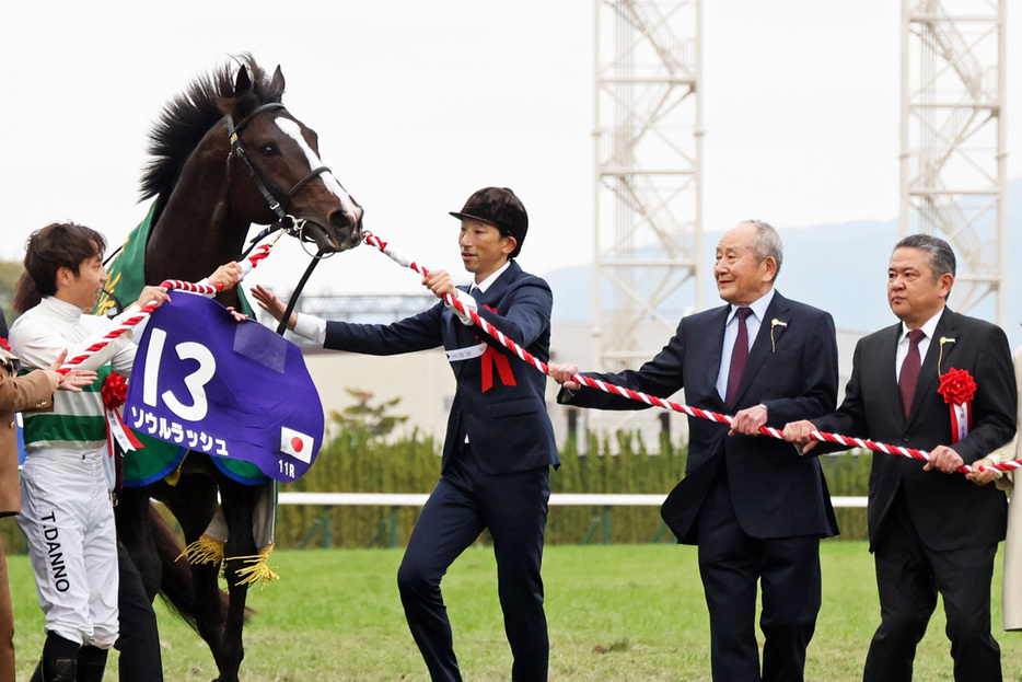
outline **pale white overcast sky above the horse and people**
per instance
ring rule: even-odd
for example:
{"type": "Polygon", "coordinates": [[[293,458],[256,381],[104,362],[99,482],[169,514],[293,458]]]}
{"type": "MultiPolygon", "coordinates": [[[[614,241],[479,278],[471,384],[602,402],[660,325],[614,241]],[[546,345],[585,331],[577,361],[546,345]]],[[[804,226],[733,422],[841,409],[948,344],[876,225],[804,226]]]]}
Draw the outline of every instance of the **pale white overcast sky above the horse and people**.
{"type": "MultiPolygon", "coordinates": [[[[894,218],[901,3],[704,4],[706,229],[894,218]]],[[[248,50],[282,67],[284,103],[318,132],[367,227],[419,263],[461,270],[446,211],[487,185],[525,203],[523,267],[590,262],[593,14],[582,0],[7,3],[0,258],[20,259],[28,233],[54,220],[119,244],[146,212],[138,181],[161,107],[248,50]]],[[[1022,44],[1022,12],[1009,13],[1008,35],[1022,44]]],[[[1020,69],[1009,82],[1019,177],[1020,69]]],[[[290,288],[305,262],[294,244],[280,252],[253,279],[290,288]]],[[[311,287],[416,282],[359,248],[321,266],[311,287]]]]}

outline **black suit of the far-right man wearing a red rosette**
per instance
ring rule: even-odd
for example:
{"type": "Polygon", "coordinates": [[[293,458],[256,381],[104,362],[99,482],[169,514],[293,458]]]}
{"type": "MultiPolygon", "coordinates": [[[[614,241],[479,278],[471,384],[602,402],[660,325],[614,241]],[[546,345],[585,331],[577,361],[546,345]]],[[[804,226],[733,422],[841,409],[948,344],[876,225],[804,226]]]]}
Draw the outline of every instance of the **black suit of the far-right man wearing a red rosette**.
{"type": "MultiPolygon", "coordinates": [[[[812,419],[817,430],[919,450],[950,446],[966,464],[1011,439],[1014,371],[999,327],[944,309],[907,419],[895,374],[901,335],[899,323],[859,342],[845,401],[835,414],[812,419]],[[937,391],[939,374],[951,368],[967,370],[978,386],[972,429],[954,444],[950,408],[937,391]]],[[[917,460],[873,454],[868,513],[882,622],[870,646],[867,680],[911,679],[916,645],[938,592],[948,613],[955,679],[1001,679],[1000,651],[990,635],[990,578],[1006,511],[1004,495],[994,486],[922,471],[917,460]]]]}

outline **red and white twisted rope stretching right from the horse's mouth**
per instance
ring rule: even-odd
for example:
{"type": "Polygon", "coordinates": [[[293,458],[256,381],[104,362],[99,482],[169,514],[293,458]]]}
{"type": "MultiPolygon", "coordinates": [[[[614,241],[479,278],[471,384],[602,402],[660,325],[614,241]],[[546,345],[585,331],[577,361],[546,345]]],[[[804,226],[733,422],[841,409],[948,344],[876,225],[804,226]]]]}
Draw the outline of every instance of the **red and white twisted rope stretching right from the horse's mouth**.
{"type": "MultiPolygon", "coordinates": [[[[395,248],[388,242],[383,241],[375,234],[365,232],[362,235],[362,240],[370,246],[375,246],[376,248],[379,248],[380,251],[388,255],[396,263],[405,267],[411,268],[413,270],[419,273],[423,277],[429,274],[428,269],[420,266],[413,258],[408,257],[406,254],[395,248]]],[[[445,294],[443,297],[443,300],[448,304],[449,308],[453,308],[457,310],[458,312],[467,315],[468,319],[472,320],[472,322],[475,325],[477,325],[484,332],[486,332],[491,337],[497,339],[497,342],[501,346],[503,346],[504,348],[507,348],[508,350],[516,355],[519,358],[521,358],[529,365],[532,365],[533,367],[535,367],[537,370],[539,370],[547,377],[551,375],[550,368],[546,365],[546,362],[543,362],[542,360],[537,359],[535,356],[533,356],[531,352],[529,352],[527,350],[519,346],[512,339],[504,336],[500,332],[500,330],[498,330],[497,327],[491,325],[489,322],[480,317],[476,311],[465,308],[465,305],[462,304],[462,302],[456,297],[445,294]]],[[[723,415],[717,412],[709,412],[707,409],[700,409],[698,407],[689,407],[688,405],[682,405],[681,403],[675,403],[673,401],[667,401],[662,397],[657,397],[655,395],[649,395],[648,393],[642,393],[641,391],[632,391],[631,389],[625,389],[625,388],[615,385],[613,383],[599,381],[596,379],[592,379],[590,377],[585,377],[582,374],[574,374],[571,377],[571,380],[582,385],[589,386],[591,389],[603,391],[604,393],[609,393],[612,395],[620,395],[620,396],[624,396],[624,397],[627,397],[634,401],[638,401],[640,403],[646,403],[647,405],[662,407],[663,409],[670,409],[672,412],[682,413],[682,414],[685,414],[692,417],[697,417],[699,419],[709,419],[710,421],[717,421],[719,424],[727,424],[728,426],[731,426],[731,423],[734,419],[734,417],[729,416],[729,415],[723,415]]],[[[760,426],[759,434],[762,434],[763,436],[769,436],[771,438],[783,440],[782,431],[774,427],[760,426]]],[[[832,442],[832,443],[837,443],[840,446],[847,446],[848,448],[864,448],[873,452],[884,452],[884,453],[894,454],[897,456],[922,460],[925,462],[928,462],[930,459],[929,452],[925,450],[917,450],[915,448],[903,448],[901,446],[889,446],[886,443],[876,442],[874,440],[869,440],[869,439],[863,439],[863,438],[851,438],[848,436],[840,436],[837,434],[828,434],[826,431],[812,431],[810,434],[810,438],[812,438],[813,440],[821,441],[821,442],[832,442]]],[[[1000,464],[995,464],[992,466],[980,466],[979,471],[986,471],[988,469],[992,469],[996,471],[1012,471],[1017,469],[1022,469],[1022,461],[1002,462],[1000,464]]],[[[957,467],[956,471],[961,473],[971,473],[973,471],[973,467],[966,464],[964,466],[957,467]]]]}

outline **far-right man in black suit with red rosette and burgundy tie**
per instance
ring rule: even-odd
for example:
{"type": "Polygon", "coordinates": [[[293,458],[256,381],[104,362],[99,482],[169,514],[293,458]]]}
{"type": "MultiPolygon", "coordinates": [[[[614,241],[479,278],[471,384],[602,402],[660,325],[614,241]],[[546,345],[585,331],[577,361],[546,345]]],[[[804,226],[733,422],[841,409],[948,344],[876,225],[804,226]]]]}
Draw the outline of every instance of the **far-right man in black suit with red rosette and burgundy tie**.
{"type": "Polygon", "coordinates": [[[925,465],[873,453],[868,516],[881,623],[866,682],[911,680],[916,645],[938,593],[954,679],[1002,679],[990,634],[990,580],[1004,539],[1004,495],[954,470],[1011,439],[1015,380],[1004,332],[946,308],[954,271],[954,253],[943,240],[913,234],[899,241],[887,298],[901,322],[859,342],[837,412],[785,428],[804,452],[816,444],[810,432],[820,430],[930,453],[925,465]],[[954,395],[949,389],[955,384],[966,391],[954,395]]]}

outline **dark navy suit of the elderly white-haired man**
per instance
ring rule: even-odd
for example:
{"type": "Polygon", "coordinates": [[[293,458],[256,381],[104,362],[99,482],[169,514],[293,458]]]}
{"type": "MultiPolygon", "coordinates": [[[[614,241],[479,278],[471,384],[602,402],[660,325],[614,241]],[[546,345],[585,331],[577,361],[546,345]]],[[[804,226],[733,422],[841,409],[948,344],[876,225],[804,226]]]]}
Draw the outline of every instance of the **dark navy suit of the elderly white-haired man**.
{"type": "MultiPolygon", "coordinates": [[[[716,383],[729,312],[724,305],[684,317],[663,350],[637,371],[590,375],[663,397],[684,388],[687,404],[712,412],[735,414],[763,403],[767,425],[778,428],[832,409],[834,322],[780,293],[760,323],[734,404],[724,404],[716,383]]],[[[592,389],[572,397],[562,392],[559,400],[602,409],[641,407],[592,389]]],[[[820,609],[820,537],[837,533],[820,464],[780,440],[728,437],[727,426],[695,417],[688,424],[685,478],[662,513],[681,542],[699,545],[713,677],[760,677],[754,628],[762,579],[763,678],[801,680],[820,609]]]]}

